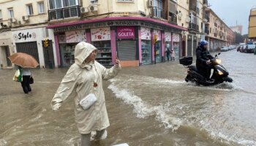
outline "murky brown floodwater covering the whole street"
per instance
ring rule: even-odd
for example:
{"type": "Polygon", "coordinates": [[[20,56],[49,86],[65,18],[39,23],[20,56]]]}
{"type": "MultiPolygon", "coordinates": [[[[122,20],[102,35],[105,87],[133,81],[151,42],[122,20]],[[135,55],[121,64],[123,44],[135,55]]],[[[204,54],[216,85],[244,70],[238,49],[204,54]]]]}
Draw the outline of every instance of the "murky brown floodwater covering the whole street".
{"type": "MultiPolygon", "coordinates": [[[[233,83],[184,82],[187,69],[164,63],[122,69],[105,82],[108,139],[94,145],[256,145],[256,55],[222,53],[233,83]]],[[[15,70],[0,70],[0,146],[78,145],[72,98],[58,112],[50,100],[67,69],[32,70],[23,94],[15,70]]]]}

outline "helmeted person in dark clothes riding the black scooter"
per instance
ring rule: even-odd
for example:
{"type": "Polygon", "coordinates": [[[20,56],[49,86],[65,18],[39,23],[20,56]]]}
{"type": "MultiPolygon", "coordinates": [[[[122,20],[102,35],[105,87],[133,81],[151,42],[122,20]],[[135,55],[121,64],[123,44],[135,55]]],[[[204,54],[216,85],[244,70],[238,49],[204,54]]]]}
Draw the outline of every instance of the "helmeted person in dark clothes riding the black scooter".
{"type": "Polygon", "coordinates": [[[200,45],[197,47],[197,69],[204,77],[206,77],[206,80],[213,81],[210,79],[211,75],[211,69],[213,66],[211,66],[211,59],[214,57],[208,52],[208,42],[203,40],[200,42],[200,45]]]}

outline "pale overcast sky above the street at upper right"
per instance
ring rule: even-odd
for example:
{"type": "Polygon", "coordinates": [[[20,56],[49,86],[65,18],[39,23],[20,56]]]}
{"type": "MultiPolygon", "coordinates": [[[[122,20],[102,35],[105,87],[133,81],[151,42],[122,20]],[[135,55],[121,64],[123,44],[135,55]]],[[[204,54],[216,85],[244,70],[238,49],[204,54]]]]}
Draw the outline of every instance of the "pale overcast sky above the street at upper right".
{"type": "Polygon", "coordinates": [[[256,7],[256,0],[208,0],[211,9],[224,19],[227,26],[243,26],[242,34],[248,34],[249,12],[256,7]]]}

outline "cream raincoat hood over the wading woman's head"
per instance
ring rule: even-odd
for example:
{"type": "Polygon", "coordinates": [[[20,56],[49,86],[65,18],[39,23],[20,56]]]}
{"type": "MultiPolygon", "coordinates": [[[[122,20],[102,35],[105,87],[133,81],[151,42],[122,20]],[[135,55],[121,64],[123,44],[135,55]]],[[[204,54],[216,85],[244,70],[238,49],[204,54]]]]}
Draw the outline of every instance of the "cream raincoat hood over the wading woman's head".
{"type": "Polygon", "coordinates": [[[75,64],[83,67],[84,61],[94,50],[97,50],[97,48],[93,45],[87,42],[79,42],[75,46],[75,64]]]}

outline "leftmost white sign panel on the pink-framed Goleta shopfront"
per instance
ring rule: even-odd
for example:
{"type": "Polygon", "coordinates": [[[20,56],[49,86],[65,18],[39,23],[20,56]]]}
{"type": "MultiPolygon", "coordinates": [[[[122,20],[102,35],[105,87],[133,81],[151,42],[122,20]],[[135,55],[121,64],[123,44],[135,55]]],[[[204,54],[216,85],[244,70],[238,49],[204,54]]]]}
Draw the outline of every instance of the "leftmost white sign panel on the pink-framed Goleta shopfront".
{"type": "Polygon", "coordinates": [[[86,42],[86,31],[67,31],[65,37],[66,43],[86,42]]]}

